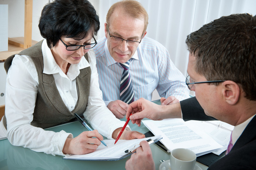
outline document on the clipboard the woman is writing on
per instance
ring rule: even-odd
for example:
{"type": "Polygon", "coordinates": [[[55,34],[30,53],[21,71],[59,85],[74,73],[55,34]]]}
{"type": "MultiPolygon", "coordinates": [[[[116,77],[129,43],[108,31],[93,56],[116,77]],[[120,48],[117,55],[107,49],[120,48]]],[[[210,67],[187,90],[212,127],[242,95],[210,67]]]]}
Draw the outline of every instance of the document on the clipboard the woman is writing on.
{"type": "Polygon", "coordinates": [[[116,144],[114,144],[115,140],[103,140],[107,147],[102,143],[96,149],[96,151],[84,154],[84,155],[69,155],[64,157],[63,159],[75,159],[75,160],[120,160],[129,156],[130,152],[140,147],[141,141],[147,141],[149,144],[155,143],[162,139],[160,135],[143,138],[143,139],[133,139],[133,140],[118,140],[116,144]]]}

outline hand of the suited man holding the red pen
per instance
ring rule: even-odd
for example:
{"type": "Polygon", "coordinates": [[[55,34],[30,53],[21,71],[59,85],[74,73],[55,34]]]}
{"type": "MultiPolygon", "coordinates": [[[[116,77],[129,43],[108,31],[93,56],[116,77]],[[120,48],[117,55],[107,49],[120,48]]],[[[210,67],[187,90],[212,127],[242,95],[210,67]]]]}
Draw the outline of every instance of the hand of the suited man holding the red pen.
{"type": "Polygon", "coordinates": [[[144,98],[140,98],[137,101],[129,104],[129,107],[126,112],[126,119],[130,116],[132,123],[136,123],[138,126],[141,126],[141,120],[149,118],[151,120],[163,120],[163,115],[161,115],[162,108],[160,105],[157,105],[151,101],[148,101],[144,98]],[[131,113],[134,113],[130,115],[131,113]]]}

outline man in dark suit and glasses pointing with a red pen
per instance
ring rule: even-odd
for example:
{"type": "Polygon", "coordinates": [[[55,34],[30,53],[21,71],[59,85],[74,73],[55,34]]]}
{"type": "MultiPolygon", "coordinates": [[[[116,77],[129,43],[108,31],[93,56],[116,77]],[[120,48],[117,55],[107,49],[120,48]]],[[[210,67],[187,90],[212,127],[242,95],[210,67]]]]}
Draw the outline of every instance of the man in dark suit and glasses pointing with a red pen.
{"type": "MultiPolygon", "coordinates": [[[[234,126],[225,157],[208,169],[256,169],[256,16],[223,16],[187,36],[186,84],[196,97],[169,106],[144,99],[131,103],[133,123],[218,119],[234,126]]],[[[147,142],[126,162],[126,169],[155,169],[147,142]],[[143,166],[143,168],[142,168],[143,166]]]]}

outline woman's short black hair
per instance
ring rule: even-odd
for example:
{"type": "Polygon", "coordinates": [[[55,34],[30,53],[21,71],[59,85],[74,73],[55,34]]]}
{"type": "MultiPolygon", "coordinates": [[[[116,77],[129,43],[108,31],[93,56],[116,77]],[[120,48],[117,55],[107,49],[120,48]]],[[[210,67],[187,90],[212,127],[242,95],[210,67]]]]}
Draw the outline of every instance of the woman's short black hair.
{"type": "Polygon", "coordinates": [[[89,34],[97,35],[100,21],[87,0],[55,0],[44,6],[38,27],[51,48],[61,36],[80,40],[89,34]]]}

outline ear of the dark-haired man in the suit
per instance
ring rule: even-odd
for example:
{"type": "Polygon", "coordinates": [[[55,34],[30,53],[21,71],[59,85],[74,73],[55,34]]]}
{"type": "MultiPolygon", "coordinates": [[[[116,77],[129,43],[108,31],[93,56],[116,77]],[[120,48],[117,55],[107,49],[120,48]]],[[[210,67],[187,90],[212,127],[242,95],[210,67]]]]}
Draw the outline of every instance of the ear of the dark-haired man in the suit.
{"type": "Polygon", "coordinates": [[[240,87],[237,83],[227,80],[222,83],[222,95],[224,100],[230,104],[234,105],[238,102],[240,96],[240,87]]]}

